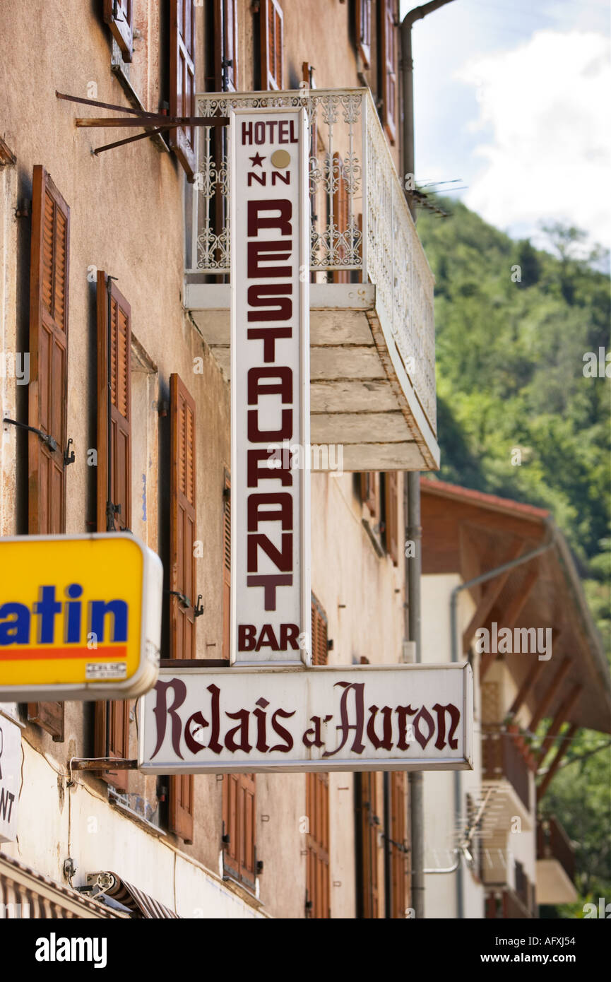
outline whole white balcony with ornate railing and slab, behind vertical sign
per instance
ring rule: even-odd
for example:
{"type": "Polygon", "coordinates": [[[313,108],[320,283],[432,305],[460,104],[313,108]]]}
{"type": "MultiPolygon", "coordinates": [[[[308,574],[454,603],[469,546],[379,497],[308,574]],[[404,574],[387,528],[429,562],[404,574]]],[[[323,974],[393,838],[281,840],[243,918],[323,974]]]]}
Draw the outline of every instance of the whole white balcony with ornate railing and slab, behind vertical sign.
{"type": "MultiPolygon", "coordinates": [[[[311,442],[346,470],[431,470],[436,441],[433,276],[367,88],[205,94],[304,106],[309,122],[311,442]]],[[[228,134],[201,128],[187,194],[185,307],[229,378],[228,134]]]]}

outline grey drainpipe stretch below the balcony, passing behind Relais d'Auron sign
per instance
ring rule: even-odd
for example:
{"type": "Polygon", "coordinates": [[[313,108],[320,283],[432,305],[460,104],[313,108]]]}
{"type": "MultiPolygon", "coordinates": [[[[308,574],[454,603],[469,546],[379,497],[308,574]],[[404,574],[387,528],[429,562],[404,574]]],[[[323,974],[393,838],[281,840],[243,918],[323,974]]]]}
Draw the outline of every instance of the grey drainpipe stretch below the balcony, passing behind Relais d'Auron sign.
{"type": "MultiPolygon", "coordinates": [[[[420,645],[420,574],[422,569],[420,545],[420,475],[412,471],[404,481],[406,538],[414,542],[414,556],[406,558],[405,574],[408,583],[407,635],[416,646],[416,662],[421,660],[420,645]]],[[[424,917],[424,803],[422,772],[410,772],[410,828],[412,846],[412,906],[416,918],[424,917]]]]}

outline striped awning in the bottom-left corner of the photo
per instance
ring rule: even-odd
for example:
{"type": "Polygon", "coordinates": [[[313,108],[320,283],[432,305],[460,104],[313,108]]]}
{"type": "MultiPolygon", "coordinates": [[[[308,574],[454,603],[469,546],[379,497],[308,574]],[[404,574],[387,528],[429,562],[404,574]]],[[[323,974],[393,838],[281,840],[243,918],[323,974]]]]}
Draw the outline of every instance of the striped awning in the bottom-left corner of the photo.
{"type": "Polygon", "coordinates": [[[48,876],[37,873],[25,863],[1,852],[0,902],[5,904],[6,916],[15,918],[128,916],[95,900],[89,900],[70,887],[55,883],[48,876]]]}

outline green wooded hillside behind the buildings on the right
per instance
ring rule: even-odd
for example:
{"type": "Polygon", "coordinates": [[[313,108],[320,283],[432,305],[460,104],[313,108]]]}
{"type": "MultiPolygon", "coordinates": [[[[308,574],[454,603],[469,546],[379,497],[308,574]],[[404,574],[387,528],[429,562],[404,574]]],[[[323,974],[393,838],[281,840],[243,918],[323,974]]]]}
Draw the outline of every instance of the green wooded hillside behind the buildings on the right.
{"type": "MultiPolygon", "coordinates": [[[[609,280],[576,257],[575,229],[551,231],[554,257],[437,203],[450,216],[422,212],[417,230],[436,278],[439,476],[552,512],[611,653],[611,380],[583,373],[583,355],[611,350],[609,280]]],[[[580,870],[580,903],[551,916],[611,892],[605,742],[579,736],[544,799],[580,870]]]]}

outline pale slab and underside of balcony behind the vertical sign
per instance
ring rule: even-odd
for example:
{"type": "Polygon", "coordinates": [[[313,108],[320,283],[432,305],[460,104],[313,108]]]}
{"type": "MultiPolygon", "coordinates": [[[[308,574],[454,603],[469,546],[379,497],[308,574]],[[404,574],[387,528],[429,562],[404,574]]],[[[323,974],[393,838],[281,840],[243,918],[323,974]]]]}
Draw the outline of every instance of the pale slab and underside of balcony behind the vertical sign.
{"type": "MultiPolygon", "coordinates": [[[[185,306],[230,379],[230,286],[190,283],[185,306]]],[[[344,470],[435,470],[439,448],[371,284],[310,285],[310,442],[344,470]]]]}

